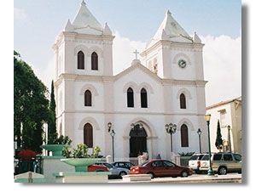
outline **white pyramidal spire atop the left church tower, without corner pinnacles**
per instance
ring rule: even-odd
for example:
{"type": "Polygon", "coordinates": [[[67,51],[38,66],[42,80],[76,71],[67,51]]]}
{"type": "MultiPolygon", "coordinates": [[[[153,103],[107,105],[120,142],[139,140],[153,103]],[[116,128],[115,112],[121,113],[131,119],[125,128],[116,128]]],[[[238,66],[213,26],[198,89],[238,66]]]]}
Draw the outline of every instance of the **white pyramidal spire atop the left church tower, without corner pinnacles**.
{"type": "Polygon", "coordinates": [[[90,13],[90,10],[86,7],[84,0],[81,2],[79,12],[75,16],[72,25],[77,28],[90,27],[100,31],[103,30],[102,25],[96,20],[93,14],[90,13]]]}

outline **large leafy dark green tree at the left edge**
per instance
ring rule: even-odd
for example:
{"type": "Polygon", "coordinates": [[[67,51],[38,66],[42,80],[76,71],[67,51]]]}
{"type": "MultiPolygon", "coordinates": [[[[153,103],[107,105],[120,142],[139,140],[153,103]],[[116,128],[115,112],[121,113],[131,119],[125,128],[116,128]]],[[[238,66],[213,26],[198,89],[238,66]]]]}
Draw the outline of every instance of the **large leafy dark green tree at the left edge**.
{"type": "Polygon", "coordinates": [[[18,146],[41,153],[43,124],[48,119],[48,90],[14,51],[14,137],[18,146]],[[22,133],[21,133],[22,127],[22,133]]]}

